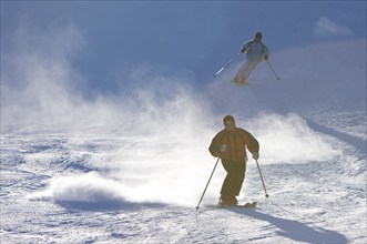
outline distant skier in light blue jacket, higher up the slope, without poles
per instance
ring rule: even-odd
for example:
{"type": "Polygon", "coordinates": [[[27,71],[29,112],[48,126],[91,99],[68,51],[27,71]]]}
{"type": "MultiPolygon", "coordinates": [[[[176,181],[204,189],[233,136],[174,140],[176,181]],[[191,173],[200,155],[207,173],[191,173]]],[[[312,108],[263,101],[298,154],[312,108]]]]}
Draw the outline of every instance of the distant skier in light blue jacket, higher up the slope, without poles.
{"type": "Polygon", "coordinates": [[[254,40],[242,45],[241,52],[246,53],[246,62],[241,67],[233,82],[238,85],[248,85],[247,79],[255,67],[263,60],[267,60],[269,51],[262,42],[262,32],[256,32],[254,40]]]}

